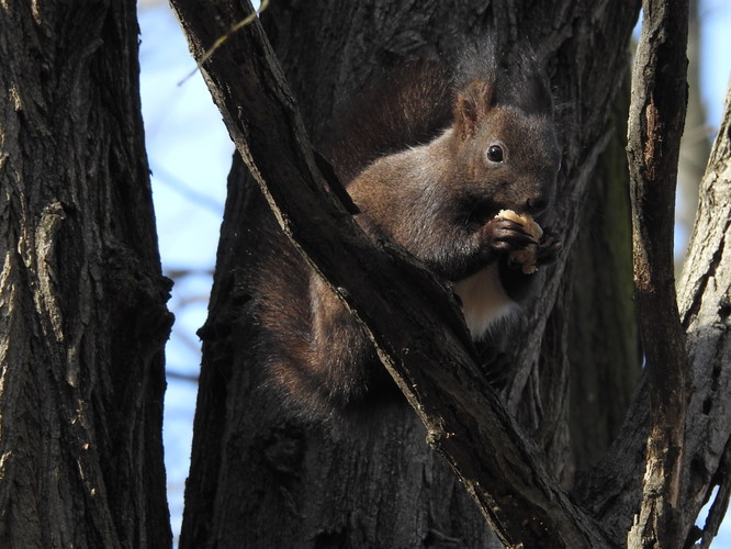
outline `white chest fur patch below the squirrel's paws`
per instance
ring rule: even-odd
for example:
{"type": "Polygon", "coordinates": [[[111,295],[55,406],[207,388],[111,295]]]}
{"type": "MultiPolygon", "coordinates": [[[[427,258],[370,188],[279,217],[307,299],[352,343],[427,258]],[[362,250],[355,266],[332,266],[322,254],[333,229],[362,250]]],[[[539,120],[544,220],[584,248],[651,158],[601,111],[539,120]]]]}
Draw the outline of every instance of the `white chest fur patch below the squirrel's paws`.
{"type": "Polygon", "coordinates": [[[482,339],[493,323],[507,316],[517,306],[505,293],[497,269],[497,265],[491,265],[454,284],[454,292],[462,301],[462,313],[474,340],[482,339]]]}

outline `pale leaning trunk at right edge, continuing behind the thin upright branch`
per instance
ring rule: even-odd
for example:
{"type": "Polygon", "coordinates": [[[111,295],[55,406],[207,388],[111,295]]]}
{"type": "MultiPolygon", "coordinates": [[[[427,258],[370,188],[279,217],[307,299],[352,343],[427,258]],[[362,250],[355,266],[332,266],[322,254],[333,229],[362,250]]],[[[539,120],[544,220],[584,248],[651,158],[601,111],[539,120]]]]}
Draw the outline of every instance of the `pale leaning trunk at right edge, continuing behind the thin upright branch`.
{"type": "MultiPolygon", "coordinates": [[[[688,390],[683,425],[681,507],[676,509],[679,537],[675,546],[700,538],[700,530],[693,526],[718,485],[721,489],[713,516],[702,531],[704,542],[715,535],[716,516],[722,514],[726,506],[728,491],[724,486],[731,475],[724,457],[731,437],[731,369],[728,368],[731,365],[731,246],[728,244],[731,240],[731,89],[699,197],[689,254],[678,284],[691,391],[688,390]],[[688,531],[694,539],[684,539],[688,531]]],[[[618,534],[627,530],[626,516],[639,508],[642,495],[636,486],[642,479],[642,469],[646,470],[646,460],[642,461],[642,457],[648,425],[652,423],[650,394],[653,389],[649,386],[648,370],[643,372],[622,433],[596,469],[581,479],[575,491],[593,516],[618,534]]],[[[650,503],[645,498],[648,508],[650,503]]],[[[636,536],[638,534],[641,534],[639,525],[636,536]]],[[[643,547],[645,541],[648,539],[639,535],[630,547],[643,547]]]]}

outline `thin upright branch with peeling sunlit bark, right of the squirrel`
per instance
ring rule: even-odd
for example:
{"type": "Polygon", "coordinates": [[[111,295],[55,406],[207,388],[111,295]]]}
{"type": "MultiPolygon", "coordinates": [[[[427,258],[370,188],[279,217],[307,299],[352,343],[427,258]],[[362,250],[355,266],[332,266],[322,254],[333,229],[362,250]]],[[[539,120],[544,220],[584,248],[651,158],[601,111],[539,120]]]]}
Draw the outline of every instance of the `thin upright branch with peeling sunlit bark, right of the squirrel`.
{"type": "Polygon", "coordinates": [[[651,400],[643,497],[630,546],[676,547],[688,361],[673,276],[675,179],[687,102],[688,2],[645,0],[628,155],[634,285],[651,400]]]}

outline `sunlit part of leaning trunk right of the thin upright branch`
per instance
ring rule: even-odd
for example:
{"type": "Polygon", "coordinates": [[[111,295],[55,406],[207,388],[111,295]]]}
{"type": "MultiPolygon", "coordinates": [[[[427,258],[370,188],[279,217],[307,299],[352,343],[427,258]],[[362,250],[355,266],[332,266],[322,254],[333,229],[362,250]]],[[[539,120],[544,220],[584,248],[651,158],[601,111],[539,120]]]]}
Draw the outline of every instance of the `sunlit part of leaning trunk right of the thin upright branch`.
{"type": "Polygon", "coordinates": [[[731,87],[699,189],[698,212],[678,284],[693,394],[685,426],[684,520],[720,486],[702,531],[707,546],[726,512],[731,484],[731,87]]]}

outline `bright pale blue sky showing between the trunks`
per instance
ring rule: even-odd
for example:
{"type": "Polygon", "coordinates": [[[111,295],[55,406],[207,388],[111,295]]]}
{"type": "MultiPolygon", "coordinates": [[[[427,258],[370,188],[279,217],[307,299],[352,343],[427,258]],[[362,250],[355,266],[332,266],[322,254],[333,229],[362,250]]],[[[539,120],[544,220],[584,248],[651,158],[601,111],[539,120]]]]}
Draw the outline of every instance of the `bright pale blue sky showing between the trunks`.
{"type": "MultiPolygon", "coordinates": [[[[200,344],[195,330],[206,316],[211,271],[234,150],[195,74],[195,65],[167,3],[143,2],[140,64],[143,116],[153,171],[160,255],[166,271],[184,271],[170,307],[176,326],[167,346],[170,371],[196,376],[200,344]]],[[[710,124],[718,126],[731,74],[731,2],[701,2],[702,99],[710,124]]],[[[196,385],[171,378],[166,396],[165,446],[173,531],[180,529],[182,489],[188,474],[196,385]]],[[[713,544],[731,549],[731,527],[713,544]]]]}

